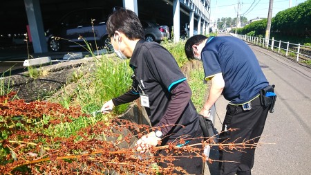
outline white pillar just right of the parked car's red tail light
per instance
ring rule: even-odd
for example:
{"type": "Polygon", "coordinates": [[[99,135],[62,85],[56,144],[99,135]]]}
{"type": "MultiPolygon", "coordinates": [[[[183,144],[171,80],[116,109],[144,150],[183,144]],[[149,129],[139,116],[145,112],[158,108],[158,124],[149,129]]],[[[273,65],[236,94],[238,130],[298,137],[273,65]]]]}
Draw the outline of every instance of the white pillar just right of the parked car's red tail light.
{"type": "Polygon", "coordinates": [[[173,37],[174,42],[180,39],[180,1],[173,1],[173,37]]]}

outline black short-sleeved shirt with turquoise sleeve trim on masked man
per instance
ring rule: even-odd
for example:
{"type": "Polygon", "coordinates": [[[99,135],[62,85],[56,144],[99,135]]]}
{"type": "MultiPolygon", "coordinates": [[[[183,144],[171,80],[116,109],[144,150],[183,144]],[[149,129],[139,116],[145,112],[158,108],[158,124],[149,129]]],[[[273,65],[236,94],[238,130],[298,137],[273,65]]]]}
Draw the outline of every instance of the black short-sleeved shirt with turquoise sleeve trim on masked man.
{"type": "MultiPolygon", "coordinates": [[[[156,126],[164,116],[171,100],[170,91],[174,86],[185,81],[186,77],[180,71],[171,53],[156,42],[140,40],[133,51],[130,66],[135,74],[136,83],[133,84],[139,86],[133,87],[132,92],[148,95],[150,107],[146,107],[146,111],[151,125],[156,126]]],[[[193,136],[198,131],[198,113],[191,100],[177,124],[168,133],[174,133],[170,138],[178,138],[185,134],[193,136]]]]}

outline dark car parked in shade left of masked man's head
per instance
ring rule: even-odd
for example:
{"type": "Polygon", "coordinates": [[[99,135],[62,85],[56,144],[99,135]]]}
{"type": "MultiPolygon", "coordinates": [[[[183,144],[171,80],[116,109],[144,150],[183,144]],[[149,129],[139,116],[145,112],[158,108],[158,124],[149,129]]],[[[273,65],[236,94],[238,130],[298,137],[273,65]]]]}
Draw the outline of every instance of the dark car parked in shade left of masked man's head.
{"type": "Polygon", "coordinates": [[[76,48],[91,44],[92,48],[111,48],[106,32],[106,19],[112,9],[86,8],[69,12],[55,28],[46,32],[50,50],[76,48]],[[96,41],[96,44],[95,44],[96,41]],[[97,48],[95,47],[97,46],[97,48]]]}

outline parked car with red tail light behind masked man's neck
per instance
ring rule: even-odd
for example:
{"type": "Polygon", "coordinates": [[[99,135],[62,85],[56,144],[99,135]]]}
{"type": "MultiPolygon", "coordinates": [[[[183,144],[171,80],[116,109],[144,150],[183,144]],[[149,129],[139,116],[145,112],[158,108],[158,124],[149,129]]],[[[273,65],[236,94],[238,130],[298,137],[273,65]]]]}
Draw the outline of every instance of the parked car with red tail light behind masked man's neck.
{"type": "Polygon", "coordinates": [[[168,26],[161,26],[144,20],[140,20],[140,22],[142,23],[142,28],[144,28],[146,42],[160,42],[165,38],[170,38],[168,26]]]}

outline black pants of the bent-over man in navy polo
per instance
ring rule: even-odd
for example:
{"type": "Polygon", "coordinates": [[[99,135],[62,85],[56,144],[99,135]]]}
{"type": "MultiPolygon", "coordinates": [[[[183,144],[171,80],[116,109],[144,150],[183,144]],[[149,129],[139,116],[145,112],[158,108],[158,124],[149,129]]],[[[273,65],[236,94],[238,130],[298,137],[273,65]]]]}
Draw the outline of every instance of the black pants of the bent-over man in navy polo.
{"type": "MultiPolygon", "coordinates": [[[[254,142],[258,142],[261,133],[263,133],[263,127],[265,126],[265,120],[269,109],[261,106],[259,98],[252,100],[251,104],[252,109],[249,111],[243,111],[242,106],[227,105],[227,113],[223,122],[222,133],[220,133],[220,142],[241,143],[243,140],[250,140],[253,138],[255,138],[254,142]],[[227,129],[238,130],[223,132],[225,127],[227,127],[227,129]]],[[[219,151],[220,175],[250,175],[254,165],[255,147],[253,149],[243,149],[242,151],[229,151],[231,152],[219,151]],[[222,160],[234,161],[236,163],[221,162],[222,160]]]]}

